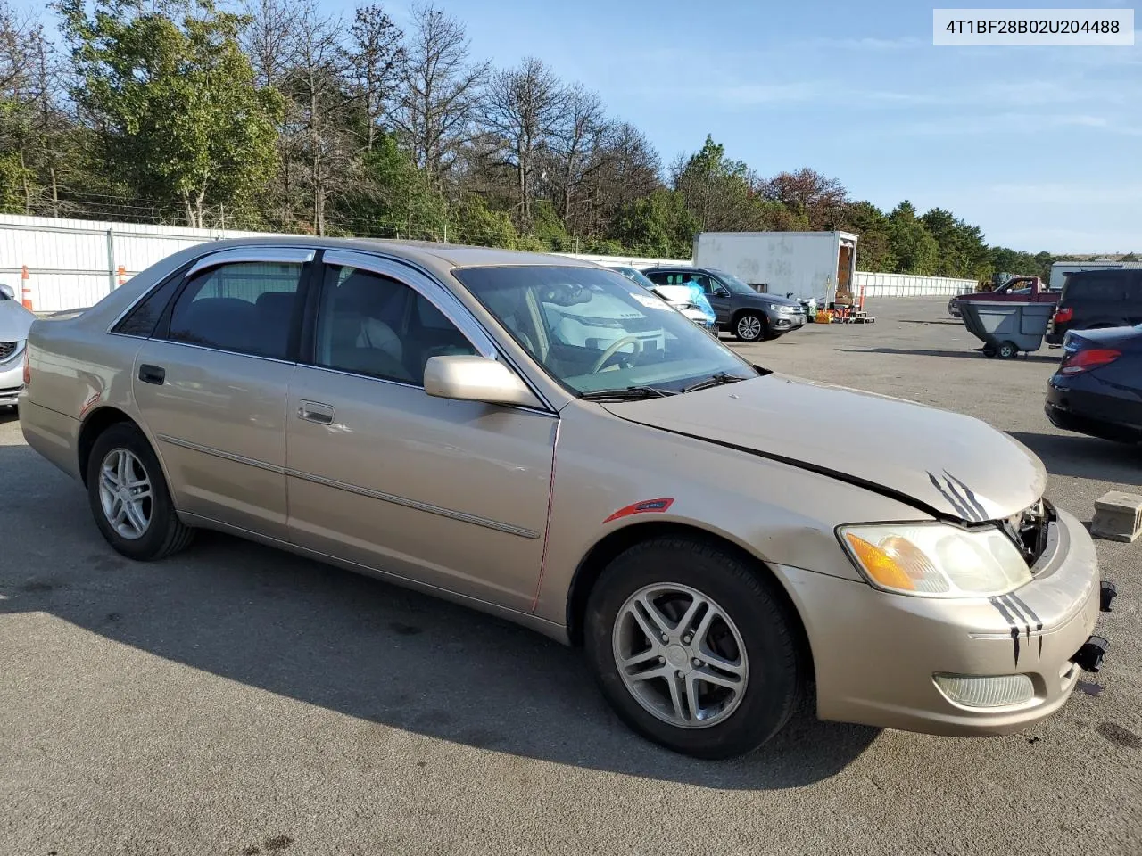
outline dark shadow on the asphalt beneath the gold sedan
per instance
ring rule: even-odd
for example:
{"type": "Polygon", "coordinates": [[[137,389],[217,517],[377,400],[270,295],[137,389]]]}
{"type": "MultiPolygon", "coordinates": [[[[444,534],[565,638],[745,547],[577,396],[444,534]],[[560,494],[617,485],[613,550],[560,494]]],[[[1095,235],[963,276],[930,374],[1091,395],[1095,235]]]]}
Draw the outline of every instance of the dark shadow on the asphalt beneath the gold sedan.
{"type": "Polygon", "coordinates": [[[579,652],[538,633],[214,533],[163,562],[135,563],[99,535],[80,486],[27,446],[0,446],[0,473],[22,498],[5,515],[0,615],[46,612],[378,726],[708,788],[812,784],[843,770],[879,734],[821,722],[806,705],[746,758],[690,759],[627,729],[579,652]]]}

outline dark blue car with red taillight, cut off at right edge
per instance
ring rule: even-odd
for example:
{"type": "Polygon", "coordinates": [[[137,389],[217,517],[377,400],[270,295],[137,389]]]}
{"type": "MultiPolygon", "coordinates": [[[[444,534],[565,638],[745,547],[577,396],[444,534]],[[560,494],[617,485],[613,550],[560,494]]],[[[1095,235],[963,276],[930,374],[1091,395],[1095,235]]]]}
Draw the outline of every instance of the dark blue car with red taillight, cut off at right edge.
{"type": "Polygon", "coordinates": [[[1142,442],[1142,324],[1067,333],[1044,410],[1068,431],[1142,442]]]}

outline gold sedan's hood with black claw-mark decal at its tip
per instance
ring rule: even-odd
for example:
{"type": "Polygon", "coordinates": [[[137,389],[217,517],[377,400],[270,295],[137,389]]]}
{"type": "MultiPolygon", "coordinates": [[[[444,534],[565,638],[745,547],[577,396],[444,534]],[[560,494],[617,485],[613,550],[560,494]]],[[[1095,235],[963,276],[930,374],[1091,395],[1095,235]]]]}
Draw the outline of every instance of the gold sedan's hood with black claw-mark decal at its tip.
{"type": "Polygon", "coordinates": [[[781,374],[605,407],[966,522],[1018,514],[1046,486],[1038,458],[978,419],[781,374]]]}

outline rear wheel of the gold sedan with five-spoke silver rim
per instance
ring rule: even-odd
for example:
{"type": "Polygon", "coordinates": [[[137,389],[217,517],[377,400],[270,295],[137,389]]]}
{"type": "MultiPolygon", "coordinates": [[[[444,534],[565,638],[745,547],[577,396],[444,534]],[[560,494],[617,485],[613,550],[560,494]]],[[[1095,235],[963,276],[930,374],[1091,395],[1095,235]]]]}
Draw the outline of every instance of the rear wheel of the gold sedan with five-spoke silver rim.
{"type": "Polygon", "coordinates": [[[87,463],[87,498],[99,532],[107,543],[128,558],[139,562],[166,558],[186,549],[194,538],[194,530],[178,519],[154,450],[143,433],[128,422],[112,425],[91,446],[91,457],[87,463]],[[123,461],[128,474],[127,483],[136,491],[131,495],[143,494],[144,487],[138,485],[139,479],[146,482],[148,490],[146,495],[132,499],[130,503],[123,502],[127,493],[118,491],[113,483],[103,477],[106,465],[112,468],[118,481],[124,471],[120,469],[123,461]],[[139,526],[138,516],[124,511],[120,518],[115,514],[116,509],[123,509],[127,504],[140,509],[145,526],[139,526]],[[119,519],[118,524],[113,516],[119,519]],[[131,530],[134,533],[128,532],[131,530]]]}

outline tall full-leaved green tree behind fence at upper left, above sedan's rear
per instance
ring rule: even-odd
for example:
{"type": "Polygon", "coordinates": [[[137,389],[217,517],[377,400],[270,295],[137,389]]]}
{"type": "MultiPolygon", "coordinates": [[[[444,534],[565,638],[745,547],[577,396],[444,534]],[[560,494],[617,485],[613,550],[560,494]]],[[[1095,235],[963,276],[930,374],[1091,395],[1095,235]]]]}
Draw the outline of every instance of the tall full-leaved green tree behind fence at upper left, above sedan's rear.
{"type": "Polygon", "coordinates": [[[203,226],[208,207],[240,208],[270,178],[281,103],[254,84],[242,16],[212,0],[96,0],[91,17],[83,0],[59,8],[73,96],[99,130],[106,169],[138,197],[177,201],[187,225],[203,226]]]}

